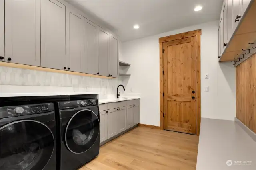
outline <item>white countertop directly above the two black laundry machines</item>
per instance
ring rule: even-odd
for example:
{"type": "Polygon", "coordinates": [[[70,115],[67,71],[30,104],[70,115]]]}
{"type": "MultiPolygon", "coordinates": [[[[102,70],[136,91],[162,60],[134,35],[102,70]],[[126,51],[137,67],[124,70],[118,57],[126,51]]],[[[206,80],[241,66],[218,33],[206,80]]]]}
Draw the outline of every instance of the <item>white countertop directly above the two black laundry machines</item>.
{"type": "Polygon", "coordinates": [[[24,96],[64,96],[64,95],[83,95],[99,94],[98,92],[56,92],[56,93],[0,93],[0,97],[24,97],[24,96]]]}

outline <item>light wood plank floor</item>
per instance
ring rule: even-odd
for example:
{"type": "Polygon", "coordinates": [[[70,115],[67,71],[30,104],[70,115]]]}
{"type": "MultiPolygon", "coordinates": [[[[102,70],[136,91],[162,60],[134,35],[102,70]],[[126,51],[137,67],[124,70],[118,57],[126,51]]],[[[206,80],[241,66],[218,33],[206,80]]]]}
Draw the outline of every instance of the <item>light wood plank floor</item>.
{"type": "Polygon", "coordinates": [[[137,127],[100,147],[80,170],[195,170],[198,136],[137,127]]]}

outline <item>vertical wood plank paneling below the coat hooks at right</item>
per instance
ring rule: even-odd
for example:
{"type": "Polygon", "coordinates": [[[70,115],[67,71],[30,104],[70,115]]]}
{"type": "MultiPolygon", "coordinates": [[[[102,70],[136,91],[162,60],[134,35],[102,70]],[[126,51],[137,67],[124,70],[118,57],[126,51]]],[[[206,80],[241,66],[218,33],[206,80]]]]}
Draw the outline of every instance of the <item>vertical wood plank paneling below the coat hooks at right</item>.
{"type": "Polygon", "coordinates": [[[256,133],[256,54],[236,67],[236,117],[256,133]]]}

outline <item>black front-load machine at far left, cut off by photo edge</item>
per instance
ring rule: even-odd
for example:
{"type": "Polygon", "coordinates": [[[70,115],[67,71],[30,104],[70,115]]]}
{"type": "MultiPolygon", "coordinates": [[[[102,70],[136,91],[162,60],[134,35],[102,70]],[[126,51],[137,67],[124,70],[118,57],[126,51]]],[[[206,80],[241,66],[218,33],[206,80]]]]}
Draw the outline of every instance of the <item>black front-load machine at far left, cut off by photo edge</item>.
{"type": "Polygon", "coordinates": [[[1,104],[0,170],[56,170],[53,103],[1,104]]]}

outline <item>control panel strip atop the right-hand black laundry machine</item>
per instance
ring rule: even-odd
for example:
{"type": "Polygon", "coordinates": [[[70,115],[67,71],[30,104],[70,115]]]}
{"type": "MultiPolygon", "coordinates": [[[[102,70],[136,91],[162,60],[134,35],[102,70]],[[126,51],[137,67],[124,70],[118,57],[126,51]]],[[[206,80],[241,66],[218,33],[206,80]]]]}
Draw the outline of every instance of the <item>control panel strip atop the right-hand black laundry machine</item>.
{"type": "Polygon", "coordinates": [[[77,107],[96,106],[98,104],[99,103],[98,103],[97,99],[58,102],[59,109],[73,109],[73,108],[77,108],[77,107]]]}

